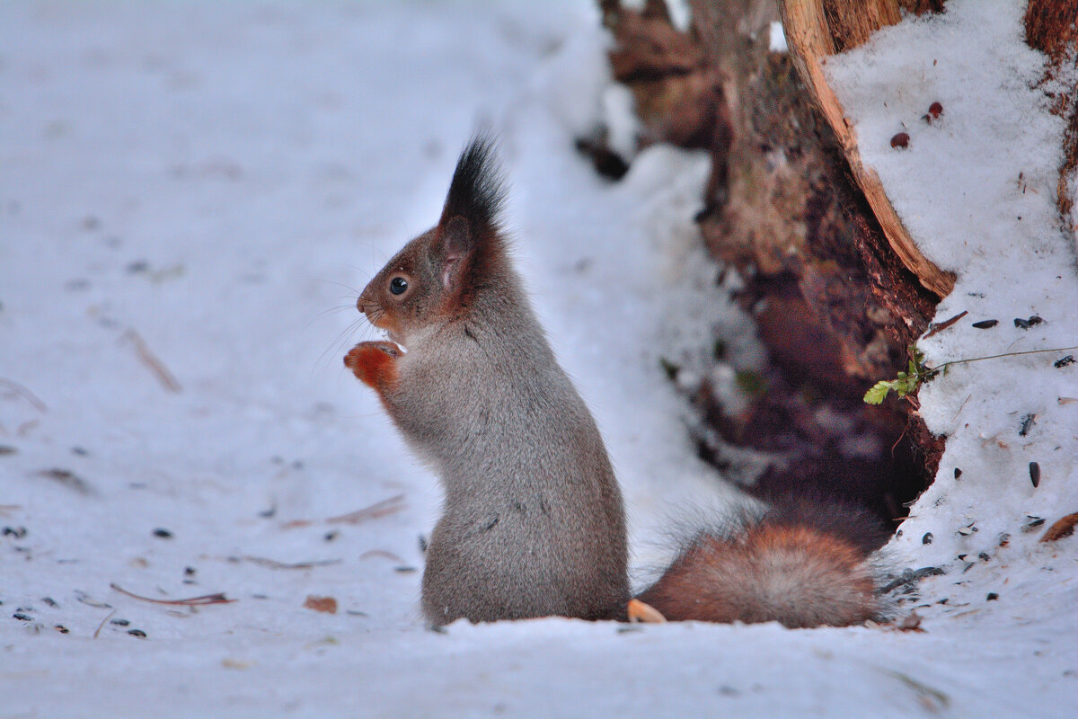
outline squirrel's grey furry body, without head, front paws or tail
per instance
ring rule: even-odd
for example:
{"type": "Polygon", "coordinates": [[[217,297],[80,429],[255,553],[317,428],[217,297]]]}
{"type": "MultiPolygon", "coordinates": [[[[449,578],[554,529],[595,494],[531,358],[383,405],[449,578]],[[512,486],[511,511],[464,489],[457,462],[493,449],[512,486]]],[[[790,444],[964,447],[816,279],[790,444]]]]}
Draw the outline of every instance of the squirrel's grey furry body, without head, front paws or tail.
{"type": "Polygon", "coordinates": [[[436,623],[611,618],[628,598],[621,494],[591,413],[507,269],[400,364],[411,405],[401,428],[445,490],[424,610],[436,623]]]}

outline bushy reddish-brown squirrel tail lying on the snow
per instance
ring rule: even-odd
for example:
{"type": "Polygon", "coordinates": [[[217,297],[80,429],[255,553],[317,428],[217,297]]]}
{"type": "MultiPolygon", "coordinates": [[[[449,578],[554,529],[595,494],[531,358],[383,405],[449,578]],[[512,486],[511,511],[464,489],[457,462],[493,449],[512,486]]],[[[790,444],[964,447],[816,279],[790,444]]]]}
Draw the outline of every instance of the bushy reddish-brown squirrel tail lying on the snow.
{"type": "Polygon", "coordinates": [[[858,624],[883,613],[869,557],[885,540],[858,508],[786,501],[696,534],[637,598],[667,620],[858,624]]]}

